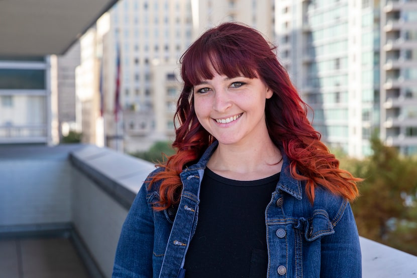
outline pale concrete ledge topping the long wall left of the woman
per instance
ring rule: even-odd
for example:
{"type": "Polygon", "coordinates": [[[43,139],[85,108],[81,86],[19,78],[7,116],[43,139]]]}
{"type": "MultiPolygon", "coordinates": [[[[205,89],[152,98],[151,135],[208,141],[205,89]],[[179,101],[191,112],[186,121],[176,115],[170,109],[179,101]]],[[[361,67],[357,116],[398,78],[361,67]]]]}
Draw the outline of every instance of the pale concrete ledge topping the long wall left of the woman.
{"type": "Polygon", "coordinates": [[[148,161],[93,145],[71,152],[70,161],[128,210],[143,181],[155,169],[148,161]]]}

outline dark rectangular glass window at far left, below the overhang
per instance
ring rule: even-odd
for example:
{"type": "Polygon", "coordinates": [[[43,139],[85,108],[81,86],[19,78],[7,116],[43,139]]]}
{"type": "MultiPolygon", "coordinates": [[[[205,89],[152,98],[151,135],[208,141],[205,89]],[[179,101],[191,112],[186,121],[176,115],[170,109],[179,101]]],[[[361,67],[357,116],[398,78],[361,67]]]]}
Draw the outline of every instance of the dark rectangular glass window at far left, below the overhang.
{"type": "Polygon", "coordinates": [[[43,69],[0,68],[0,89],[45,89],[43,69]]]}

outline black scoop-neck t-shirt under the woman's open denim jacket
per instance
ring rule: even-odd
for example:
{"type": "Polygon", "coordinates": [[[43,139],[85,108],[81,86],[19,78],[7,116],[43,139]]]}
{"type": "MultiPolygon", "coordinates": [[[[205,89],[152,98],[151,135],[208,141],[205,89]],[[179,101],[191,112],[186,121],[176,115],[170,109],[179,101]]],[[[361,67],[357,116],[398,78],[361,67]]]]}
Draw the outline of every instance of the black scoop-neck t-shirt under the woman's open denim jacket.
{"type": "Polygon", "coordinates": [[[279,173],[239,181],[205,169],[186,278],[266,277],[265,209],[278,180],[279,173]]]}

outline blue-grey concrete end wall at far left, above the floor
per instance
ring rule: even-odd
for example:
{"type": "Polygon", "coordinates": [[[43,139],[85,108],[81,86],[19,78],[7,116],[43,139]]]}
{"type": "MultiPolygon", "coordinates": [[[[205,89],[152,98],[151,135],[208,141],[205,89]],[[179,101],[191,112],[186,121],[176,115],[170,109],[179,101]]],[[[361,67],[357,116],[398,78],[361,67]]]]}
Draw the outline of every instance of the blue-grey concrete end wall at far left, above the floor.
{"type": "Polygon", "coordinates": [[[0,150],[0,231],[8,226],[71,221],[68,147],[0,150]]]}

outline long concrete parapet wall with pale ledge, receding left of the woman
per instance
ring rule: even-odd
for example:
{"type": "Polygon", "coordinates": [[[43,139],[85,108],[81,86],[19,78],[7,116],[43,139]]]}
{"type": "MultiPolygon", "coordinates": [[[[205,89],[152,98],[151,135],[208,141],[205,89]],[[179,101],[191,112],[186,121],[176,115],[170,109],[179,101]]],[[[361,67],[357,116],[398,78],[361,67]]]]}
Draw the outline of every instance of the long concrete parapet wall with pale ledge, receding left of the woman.
{"type": "Polygon", "coordinates": [[[123,222],[142,182],[155,167],[110,149],[71,153],[72,221],[91,257],[111,277],[123,222]]]}

